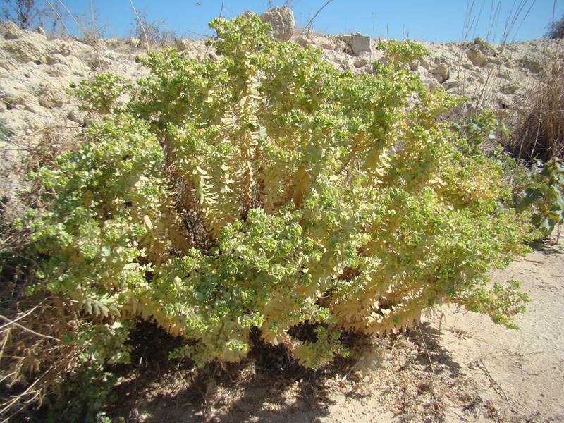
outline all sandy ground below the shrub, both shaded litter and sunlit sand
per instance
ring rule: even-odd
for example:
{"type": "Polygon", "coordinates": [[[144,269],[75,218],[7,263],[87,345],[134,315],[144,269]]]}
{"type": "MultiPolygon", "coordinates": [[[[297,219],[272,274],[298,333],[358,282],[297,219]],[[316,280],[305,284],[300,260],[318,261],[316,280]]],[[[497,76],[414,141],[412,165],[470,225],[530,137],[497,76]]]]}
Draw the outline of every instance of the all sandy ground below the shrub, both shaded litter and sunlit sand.
{"type": "Polygon", "coordinates": [[[357,341],[352,357],[319,371],[283,356],[208,379],[179,370],[121,398],[117,420],[564,422],[564,235],[491,278],[529,293],[520,331],[443,307],[407,333],[357,341]]]}

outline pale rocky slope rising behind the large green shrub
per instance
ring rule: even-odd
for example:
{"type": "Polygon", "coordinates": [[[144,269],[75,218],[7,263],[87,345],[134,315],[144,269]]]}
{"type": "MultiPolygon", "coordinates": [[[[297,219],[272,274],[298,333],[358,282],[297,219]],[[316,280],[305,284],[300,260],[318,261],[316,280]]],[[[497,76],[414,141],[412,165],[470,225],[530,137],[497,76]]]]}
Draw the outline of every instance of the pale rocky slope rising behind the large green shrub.
{"type": "MultiPolygon", "coordinates": [[[[292,41],[298,37],[295,35],[292,41]]],[[[337,68],[367,71],[382,60],[377,49],[381,40],[362,35],[309,35],[302,40],[323,50],[323,58],[337,68]]],[[[75,102],[66,90],[71,82],[97,72],[114,72],[134,81],[143,69],[135,63],[141,54],[138,39],[101,39],[87,44],[79,39],[56,39],[20,30],[15,24],[0,25],[0,119],[16,135],[31,133],[44,125],[69,119],[84,124],[75,102]],[[63,118],[63,120],[61,120],[63,118]]],[[[544,63],[564,61],[564,40],[532,40],[515,44],[489,44],[477,38],[466,43],[422,42],[430,56],[411,64],[429,87],[503,109],[524,104],[544,63]],[[484,98],[485,97],[485,98],[484,98]]],[[[213,49],[204,40],[180,39],[180,50],[192,56],[213,49]]],[[[481,105],[481,104],[480,104],[481,105]]]]}

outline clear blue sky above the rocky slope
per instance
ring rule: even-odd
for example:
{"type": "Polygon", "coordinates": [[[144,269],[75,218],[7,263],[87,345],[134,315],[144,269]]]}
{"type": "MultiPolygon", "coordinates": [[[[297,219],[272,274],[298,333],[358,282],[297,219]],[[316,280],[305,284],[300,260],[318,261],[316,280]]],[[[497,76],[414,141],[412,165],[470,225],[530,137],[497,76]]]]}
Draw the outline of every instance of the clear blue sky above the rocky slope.
{"type": "MultiPolygon", "coordinates": [[[[37,3],[42,0],[37,0],[37,3]]],[[[52,0],[60,1],[60,0],[52,0]]],[[[63,0],[73,14],[90,16],[89,0],[63,0]]],[[[147,20],[161,20],[180,34],[209,35],[207,23],[219,16],[221,0],[133,0],[147,20]]],[[[282,6],[284,0],[271,0],[282,6]]],[[[297,25],[304,26],[326,0],[293,0],[297,25]]],[[[130,0],[92,0],[106,37],[123,37],[133,28],[130,0]]],[[[233,18],[252,10],[262,13],[268,0],[224,0],[223,16],[233,18]]],[[[372,37],[448,42],[482,37],[501,42],[505,32],[511,42],[540,38],[553,17],[560,20],[564,0],[333,0],[315,18],[314,29],[329,34],[362,32],[372,37]],[[473,6],[472,6],[473,5],[473,6]],[[470,6],[472,10],[470,11],[470,6]],[[466,25],[465,25],[466,23],[466,25]],[[508,28],[508,31],[505,28],[508,28]]]]}

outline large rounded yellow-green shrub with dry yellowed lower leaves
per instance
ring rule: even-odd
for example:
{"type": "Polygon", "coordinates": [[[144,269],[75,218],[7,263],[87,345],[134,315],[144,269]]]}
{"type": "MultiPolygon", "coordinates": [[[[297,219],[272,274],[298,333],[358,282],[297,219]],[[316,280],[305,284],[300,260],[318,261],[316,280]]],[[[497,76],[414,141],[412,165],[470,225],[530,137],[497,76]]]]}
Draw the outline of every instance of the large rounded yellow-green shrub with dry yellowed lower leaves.
{"type": "MultiPolygon", "coordinates": [[[[445,302],[513,325],[526,295],[489,290],[486,271],[528,230],[498,202],[502,161],[477,147],[493,119],[439,122],[455,101],[407,71],[410,42],[357,76],[257,18],[211,25],[219,62],[150,53],[137,97],[30,176],[44,187],[25,223],[33,290],[98,328],[92,357],[127,361],[139,317],[197,364],[245,357],[256,327],[317,366],[346,353],[341,329],[382,335],[445,302]]],[[[104,81],[96,98],[121,92],[104,81]]]]}

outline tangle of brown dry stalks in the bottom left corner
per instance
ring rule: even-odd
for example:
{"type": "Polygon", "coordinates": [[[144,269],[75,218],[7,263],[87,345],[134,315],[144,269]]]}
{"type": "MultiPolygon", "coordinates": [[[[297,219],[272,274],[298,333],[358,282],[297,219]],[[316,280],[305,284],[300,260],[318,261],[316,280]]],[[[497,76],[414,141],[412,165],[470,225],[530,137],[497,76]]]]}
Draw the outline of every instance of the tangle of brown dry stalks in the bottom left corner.
{"type": "MultiPolygon", "coordinates": [[[[16,292],[22,288],[10,285],[7,288],[16,292]]],[[[6,298],[6,289],[1,296],[6,298]]],[[[66,312],[60,298],[26,298],[20,292],[15,300],[3,304],[4,314],[26,310],[8,314],[11,317],[4,318],[0,326],[0,380],[8,387],[0,396],[0,417],[8,421],[27,407],[42,405],[44,396],[57,394],[66,374],[77,364],[80,350],[59,341],[72,331],[78,318],[66,312]]]]}

